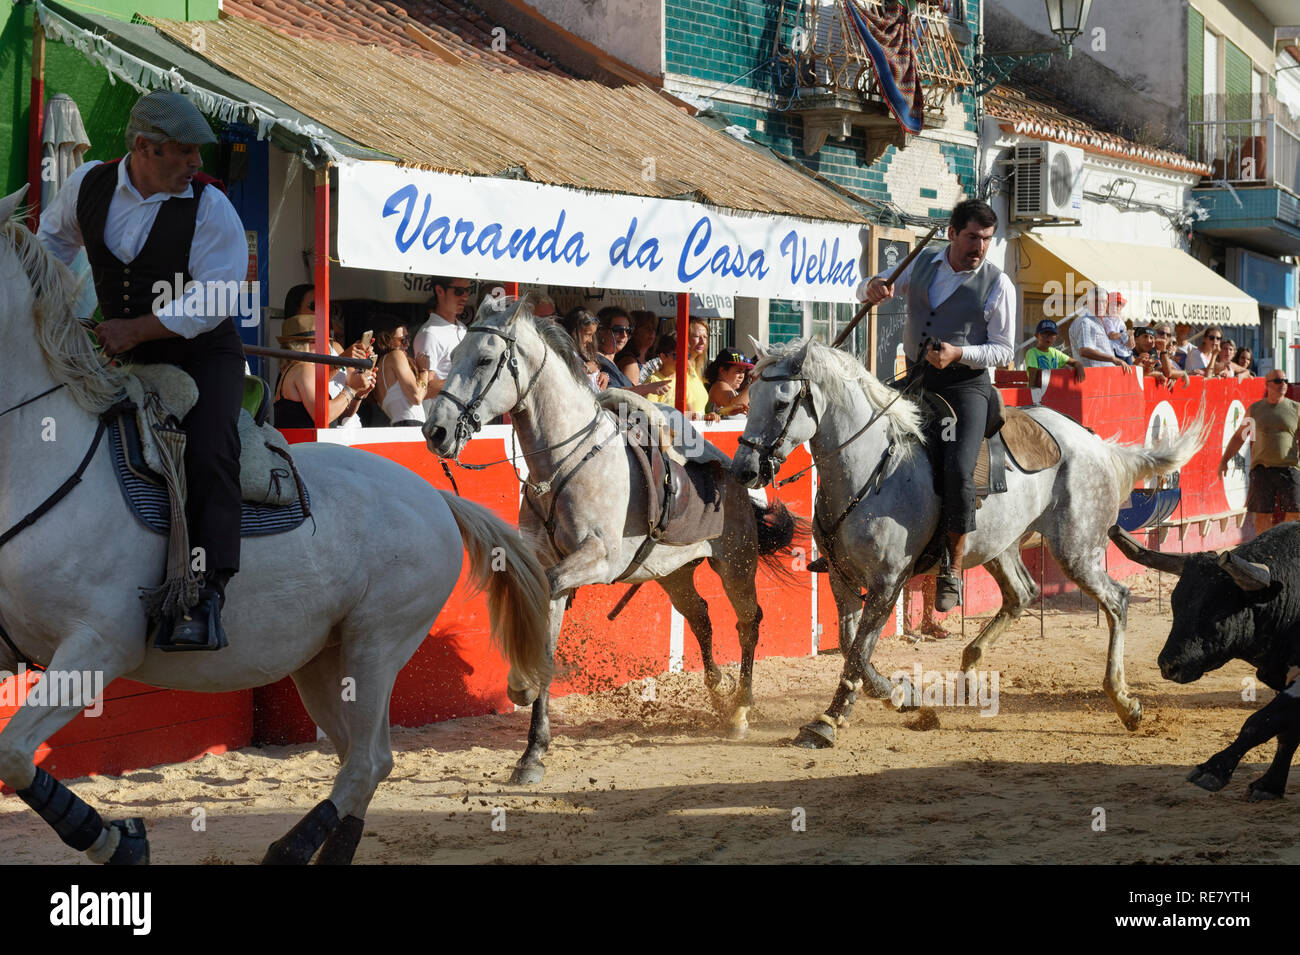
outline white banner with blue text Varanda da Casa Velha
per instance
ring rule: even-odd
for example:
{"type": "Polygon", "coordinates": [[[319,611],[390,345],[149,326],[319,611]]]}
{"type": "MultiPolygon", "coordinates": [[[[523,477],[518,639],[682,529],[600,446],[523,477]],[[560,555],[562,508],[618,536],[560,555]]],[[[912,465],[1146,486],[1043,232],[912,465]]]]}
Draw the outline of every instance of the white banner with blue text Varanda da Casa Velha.
{"type": "Polygon", "coordinates": [[[338,183],[339,262],[382,272],[853,301],[868,229],[355,160],[338,183]]]}

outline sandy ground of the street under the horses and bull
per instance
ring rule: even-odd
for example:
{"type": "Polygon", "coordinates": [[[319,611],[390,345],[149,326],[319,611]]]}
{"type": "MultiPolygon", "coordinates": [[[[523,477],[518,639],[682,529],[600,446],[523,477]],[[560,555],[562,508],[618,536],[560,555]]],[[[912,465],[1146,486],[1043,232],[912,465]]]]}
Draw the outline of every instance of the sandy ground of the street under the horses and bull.
{"type": "MultiPolygon", "coordinates": [[[[1080,611],[1070,595],[1048,602],[1044,637],[1027,615],[985,659],[996,716],[868,700],[833,750],[786,745],[829,700],[841,667],[831,654],[759,661],[744,742],[723,738],[698,673],[660,677],[655,699],[633,686],[559,700],[546,780],[526,790],[506,785],[525,712],[395,730],[396,765],[356,861],[1300,863],[1296,783],[1283,802],[1242,798],[1271,748],[1222,793],[1184,782],[1271,693],[1243,702],[1242,663],[1192,686],[1161,680],[1164,582],[1164,612],[1154,574],[1128,582],[1128,682],[1145,709],[1134,733],[1101,691],[1095,604],[1080,611]]],[[[887,674],[959,659],[959,637],[876,651],[887,674]]],[[[243,864],[329,794],[335,768],[322,742],[72,782],[105,819],[143,816],[155,863],[243,864]]],[[[83,860],[13,796],[0,799],[0,859],[83,860]]]]}

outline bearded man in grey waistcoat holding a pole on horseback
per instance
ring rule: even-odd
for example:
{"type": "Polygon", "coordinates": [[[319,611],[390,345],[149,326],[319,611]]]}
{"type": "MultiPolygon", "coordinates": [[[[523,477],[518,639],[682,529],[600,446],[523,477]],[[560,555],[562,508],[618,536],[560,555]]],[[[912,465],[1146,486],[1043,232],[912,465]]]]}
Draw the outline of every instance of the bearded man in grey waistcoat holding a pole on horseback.
{"type": "Polygon", "coordinates": [[[962,602],[962,555],[966,534],[975,530],[975,459],[993,400],[988,369],[1014,355],[1015,287],[984,261],[996,229],[997,213],[988,203],[967,199],[953,209],[948,248],[922,252],[893,285],[875,275],[858,286],[858,299],[872,305],[896,292],[907,296],[907,366],[923,361],[924,386],[957,412],[956,430],[944,430],[940,520],[948,529],[948,559],[935,585],[935,609],[941,612],[962,602]]]}

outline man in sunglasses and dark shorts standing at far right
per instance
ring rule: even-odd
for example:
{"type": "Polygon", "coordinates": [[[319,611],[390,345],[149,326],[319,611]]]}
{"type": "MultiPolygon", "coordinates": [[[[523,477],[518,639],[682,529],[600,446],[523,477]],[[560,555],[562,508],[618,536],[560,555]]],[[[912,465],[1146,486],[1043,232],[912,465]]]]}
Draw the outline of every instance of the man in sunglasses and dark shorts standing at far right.
{"type": "Polygon", "coordinates": [[[1254,515],[1254,531],[1268,530],[1275,511],[1287,521],[1300,517],[1300,404],[1287,398],[1287,376],[1275,368],[1264,377],[1264,398],[1251,405],[1247,418],[1219,459],[1219,477],[1251,439],[1251,491],[1245,509],[1254,515]]]}

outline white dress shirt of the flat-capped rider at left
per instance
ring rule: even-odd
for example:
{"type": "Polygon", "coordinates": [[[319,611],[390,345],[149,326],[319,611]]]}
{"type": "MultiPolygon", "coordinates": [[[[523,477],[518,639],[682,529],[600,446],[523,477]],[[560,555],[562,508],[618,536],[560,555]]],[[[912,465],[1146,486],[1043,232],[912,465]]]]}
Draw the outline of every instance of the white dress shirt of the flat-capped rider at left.
{"type": "MultiPolygon", "coordinates": [[[[127,265],[144,248],[162,203],[173,196],[178,199],[194,196],[192,186],[186,186],[182,192],[155,192],[147,199],[140,196],[126,174],[129,161],[130,157],[117,164],[117,187],[113,190],[108,218],[104,222],[104,244],[127,265]]],[[[79,166],[40,216],[40,242],[65,265],[72,265],[77,252],[86,244],[81,223],[77,221],[77,199],[86,173],[98,165],[99,161],[94,161],[79,166]]],[[[203,308],[194,308],[199,298],[198,292],[194,292],[192,296],[186,294],[181,300],[174,300],[173,296],[173,300],[157,309],[156,314],[169,331],[182,338],[212,331],[225,318],[239,314],[240,296],[230,292],[242,287],[239,283],[247,274],[248,240],[243,222],[239,221],[239,214],[225,194],[209,186],[203,190],[203,196],[199,199],[194,242],[190,246],[190,277],[204,285],[203,308]],[[191,303],[188,308],[187,301],[191,303]],[[207,309],[208,303],[214,305],[211,313],[207,309]]],[[[172,277],[168,277],[168,282],[173,282],[172,277]]],[[[256,296],[254,303],[256,304],[256,296]]]]}

